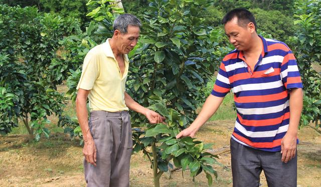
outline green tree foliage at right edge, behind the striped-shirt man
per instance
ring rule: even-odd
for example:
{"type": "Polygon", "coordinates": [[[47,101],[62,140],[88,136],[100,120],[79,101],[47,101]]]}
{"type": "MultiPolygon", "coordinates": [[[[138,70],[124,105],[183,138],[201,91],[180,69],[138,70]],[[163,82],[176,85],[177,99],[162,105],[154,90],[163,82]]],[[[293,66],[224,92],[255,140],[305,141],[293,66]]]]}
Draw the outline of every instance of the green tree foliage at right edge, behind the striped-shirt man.
{"type": "Polygon", "coordinates": [[[300,125],[321,121],[321,76],[314,66],[321,66],[321,2],[300,0],[295,3],[295,24],[298,26],[292,38],[292,48],[301,73],[304,98],[300,125]]]}

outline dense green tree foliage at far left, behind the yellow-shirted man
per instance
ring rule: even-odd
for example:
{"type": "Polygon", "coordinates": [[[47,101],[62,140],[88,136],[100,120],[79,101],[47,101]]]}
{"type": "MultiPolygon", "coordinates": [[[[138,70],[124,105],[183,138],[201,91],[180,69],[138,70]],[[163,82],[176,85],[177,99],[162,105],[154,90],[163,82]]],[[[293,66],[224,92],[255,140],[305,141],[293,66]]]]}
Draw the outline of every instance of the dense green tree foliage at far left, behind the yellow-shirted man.
{"type": "MultiPolygon", "coordinates": [[[[0,132],[7,134],[24,122],[29,133],[48,137],[47,116],[59,117],[58,125],[72,123],[63,115],[66,98],[56,85],[67,78],[75,64],[62,63],[62,39],[80,32],[73,19],[40,15],[37,8],[0,5],[0,88],[5,97],[0,132]]],[[[67,61],[68,62],[68,61],[67,61]]],[[[72,62],[72,61],[70,61],[72,62]]]]}

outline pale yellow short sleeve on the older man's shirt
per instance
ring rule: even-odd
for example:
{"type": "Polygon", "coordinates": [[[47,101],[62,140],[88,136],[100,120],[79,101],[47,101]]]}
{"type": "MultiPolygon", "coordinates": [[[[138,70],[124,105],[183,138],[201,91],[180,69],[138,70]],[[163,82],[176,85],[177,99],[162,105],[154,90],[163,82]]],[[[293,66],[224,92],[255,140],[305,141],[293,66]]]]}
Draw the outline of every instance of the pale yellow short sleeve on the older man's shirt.
{"type": "Polygon", "coordinates": [[[84,90],[91,90],[98,75],[98,57],[96,54],[90,54],[90,52],[86,55],[84,59],[84,64],[82,67],[81,77],[77,85],[77,90],[79,88],[84,90]]]}

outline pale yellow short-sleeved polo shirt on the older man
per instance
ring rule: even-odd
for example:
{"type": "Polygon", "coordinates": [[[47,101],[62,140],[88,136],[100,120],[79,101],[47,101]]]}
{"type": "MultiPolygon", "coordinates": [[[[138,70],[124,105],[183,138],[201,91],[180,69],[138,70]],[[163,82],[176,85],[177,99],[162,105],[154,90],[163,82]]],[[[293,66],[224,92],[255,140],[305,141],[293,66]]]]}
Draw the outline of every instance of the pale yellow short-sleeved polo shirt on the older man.
{"type": "Polygon", "coordinates": [[[90,90],[88,99],[91,111],[117,112],[128,110],[124,99],[129,65],[128,57],[123,55],[125,72],[121,75],[118,63],[110,48],[109,40],[92,48],[87,53],[77,86],[77,90],[79,88],[90,90]]]}

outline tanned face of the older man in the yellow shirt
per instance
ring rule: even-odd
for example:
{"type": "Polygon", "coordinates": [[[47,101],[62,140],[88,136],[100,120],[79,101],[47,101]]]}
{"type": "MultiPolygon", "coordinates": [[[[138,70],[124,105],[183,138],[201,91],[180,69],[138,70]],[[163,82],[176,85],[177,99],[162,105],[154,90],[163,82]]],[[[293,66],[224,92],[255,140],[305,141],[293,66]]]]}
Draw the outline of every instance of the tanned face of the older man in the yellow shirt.
{"type": "Polygon", "coordinates": [[[128,26],[127,33],[118,33],[116,37],[118,50],[122,54],[128,54],[137,44],[139,38],[139,27],[128,26]]]}

